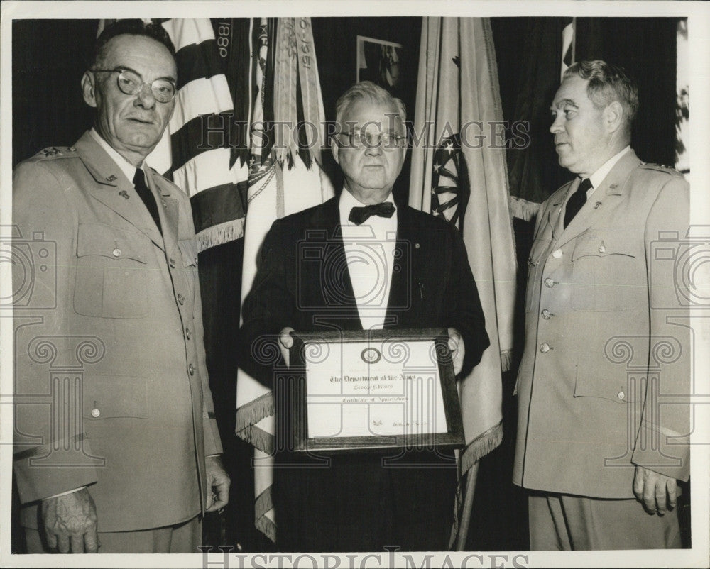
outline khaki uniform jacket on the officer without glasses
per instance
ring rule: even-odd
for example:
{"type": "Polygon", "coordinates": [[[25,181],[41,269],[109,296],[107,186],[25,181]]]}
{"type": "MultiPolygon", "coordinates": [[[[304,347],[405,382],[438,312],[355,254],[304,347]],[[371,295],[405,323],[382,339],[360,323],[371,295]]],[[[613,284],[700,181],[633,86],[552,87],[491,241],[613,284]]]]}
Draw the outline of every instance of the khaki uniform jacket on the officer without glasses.
{"type": "Polygon", "coordinates": [[[635,464],[689,476],[689,189],[628,152],[563,228],[578,185],[537,215],[513,482],[630,498],[635,464]]]}

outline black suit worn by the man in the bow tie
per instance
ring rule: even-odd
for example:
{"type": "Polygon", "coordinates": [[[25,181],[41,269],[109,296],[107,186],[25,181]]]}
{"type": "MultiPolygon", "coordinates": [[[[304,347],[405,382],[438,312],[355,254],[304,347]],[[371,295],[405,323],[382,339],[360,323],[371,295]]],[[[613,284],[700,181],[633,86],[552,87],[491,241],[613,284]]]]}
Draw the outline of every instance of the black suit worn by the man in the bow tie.
{"type": "MultiPolygon", "coordinates": [[[[241,360],[266,385],[273,385],[274,375],[273,360],[263,357],[269,352],[264,339],[273,341],[285,326],[296,331],[362,329],[346,270],[338,203],[336,197],[275,221],[264,241],[242,309],[241,360]]],[[[479,363],[488,336],[464,243],[454,228],[429,214],[400,205],[396,215],[385,328],[457,328],[464,338],[466,375],[479,363]]],[[[287,428],[279,409],[290,409],[293,402],[276,387],[278,432],[287,428]]],[[[446,547],[456,478],[452,456],[405,453],[389,465],[383,465],[383,458],[377,453],[339,455],[320,464],[278,453],[274,500],[280,548],[446,547]]]]}

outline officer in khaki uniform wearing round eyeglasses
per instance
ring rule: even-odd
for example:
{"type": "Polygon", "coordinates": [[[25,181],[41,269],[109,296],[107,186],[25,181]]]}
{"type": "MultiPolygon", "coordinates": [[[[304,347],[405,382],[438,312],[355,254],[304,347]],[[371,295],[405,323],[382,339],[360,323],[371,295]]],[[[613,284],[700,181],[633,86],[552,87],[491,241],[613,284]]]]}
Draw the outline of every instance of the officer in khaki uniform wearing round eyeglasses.
{"type": "Polygon", "coordinates": [[[174,56],[160,26],[108,26],[82,79],[94,128],[14,172],[13,223],[45,251],[15,310],[28,553],[194,553],[228,499],[190,201],[144,161],[173,114],[174,56]]]}

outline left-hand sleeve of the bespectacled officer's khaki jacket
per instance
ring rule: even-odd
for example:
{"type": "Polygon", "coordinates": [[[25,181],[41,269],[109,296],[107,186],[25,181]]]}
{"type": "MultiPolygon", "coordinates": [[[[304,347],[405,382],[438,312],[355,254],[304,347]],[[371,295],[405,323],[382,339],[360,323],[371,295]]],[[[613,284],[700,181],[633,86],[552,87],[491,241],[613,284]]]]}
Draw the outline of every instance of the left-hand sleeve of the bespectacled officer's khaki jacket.
{"type": "Polygon", "coordinates": [[[13,467],[21,502],[96,482],[72,361],[77,219],[69,189],[42,162],[13,172],[13,467]],[[74,385],[75,390],[63,389],[74,385]]]}

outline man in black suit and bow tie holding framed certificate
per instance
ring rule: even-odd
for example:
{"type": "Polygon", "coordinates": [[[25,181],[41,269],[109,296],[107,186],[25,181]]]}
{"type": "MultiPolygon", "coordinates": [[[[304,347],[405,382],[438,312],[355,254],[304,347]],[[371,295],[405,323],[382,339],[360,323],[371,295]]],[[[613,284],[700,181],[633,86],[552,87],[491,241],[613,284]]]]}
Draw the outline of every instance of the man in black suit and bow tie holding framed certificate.
{"type": "MultiPolygon", "coordinates": [[[[274,386],[277,431],[289,429],[297,402],[255,356],[263,338],[278,337],[288,362],[294,331],[447,328],[457,375],[468,374],[488,347],[457,231],[393,199],[407,152],[402,101],[361,82],[341,96],[336,115],[332,153],[344,175],[342,193],[273,223],[242,309],[241,365],[274,386]]],[[[322,458],[288,448],[275,455],[280,551],[447,548],[452,453],[402,448],[322,458]]]]}

